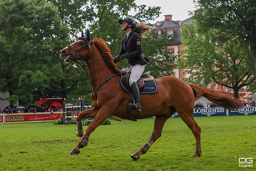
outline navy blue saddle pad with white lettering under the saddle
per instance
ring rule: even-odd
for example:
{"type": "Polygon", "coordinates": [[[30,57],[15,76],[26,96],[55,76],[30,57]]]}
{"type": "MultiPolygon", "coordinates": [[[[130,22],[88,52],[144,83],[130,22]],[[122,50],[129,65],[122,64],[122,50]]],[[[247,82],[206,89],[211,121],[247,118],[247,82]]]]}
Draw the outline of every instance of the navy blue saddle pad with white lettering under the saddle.
{"type": "MultiPolygon", "coordinates": [[[[120,79],[120,84],[122,88],[127,92],[131,94],[131,89],[126,86],[126,84],[123,82],[123,78],[120,79]]],[[[157,92],[157,84],[155,80],[152,81],[144,81],[144,87],[140,88],[140,94],[148,94],[148,93],[156,93],[157,92]]]]}

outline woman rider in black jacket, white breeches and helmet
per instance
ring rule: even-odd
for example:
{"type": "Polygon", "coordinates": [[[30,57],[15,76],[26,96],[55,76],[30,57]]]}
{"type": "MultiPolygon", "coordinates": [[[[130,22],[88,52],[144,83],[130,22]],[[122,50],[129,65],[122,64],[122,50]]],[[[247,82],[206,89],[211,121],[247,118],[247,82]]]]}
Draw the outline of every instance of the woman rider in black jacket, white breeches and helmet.
{"type": "Polygon", "coordinates": [[[141,55],[141,37],[145,37],[144,32],[150,31],[151,27],[144,23],[136,24],[135,19],[129,16],[118,22],[122,25],[122,30],[126,32],[126,35],[122,39],[120,53],[114,59],[114,62],[116,63],[124,58],[128,59],[127,72],[131,71],[129,84],[135,100],[135,104],[129,103],[128,106],[131,110],[141,112],[140,92],[136,82],[149,60],[141,55]]]}

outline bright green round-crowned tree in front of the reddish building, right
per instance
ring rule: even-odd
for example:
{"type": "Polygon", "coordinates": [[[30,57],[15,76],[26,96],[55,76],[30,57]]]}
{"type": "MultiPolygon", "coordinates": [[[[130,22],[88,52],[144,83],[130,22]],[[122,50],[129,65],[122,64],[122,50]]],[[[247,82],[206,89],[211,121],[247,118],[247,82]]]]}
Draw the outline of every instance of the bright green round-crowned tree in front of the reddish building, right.
{"type": "Polygon", "coordinates": [[[238,98],[242,87],[255,83],[246,42],[232,34],[219,34],[216,29],[202,34],[198,22],[194,23],[182,28],[182,44],[186,49],[182,51],[184,56],[179,59],[178,66],[187,68],[189,81],[203,86],[216,81],[233,89],[234,97],[238,98]]]}

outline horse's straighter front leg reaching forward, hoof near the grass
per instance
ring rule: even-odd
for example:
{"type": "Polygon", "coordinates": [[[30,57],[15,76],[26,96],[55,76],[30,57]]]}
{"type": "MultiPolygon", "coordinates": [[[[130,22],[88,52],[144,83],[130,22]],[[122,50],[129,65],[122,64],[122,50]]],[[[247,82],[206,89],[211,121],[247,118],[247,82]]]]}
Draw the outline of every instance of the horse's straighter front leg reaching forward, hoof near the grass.
{"type": "Polygon", "coordinates": [[[90,134],[98,127],[104,120],[108,119],[112,115],[112,111],[110,108],[105,107],[101,108],[98,114],[93,119],[92,123],[87,127],[86,134],[82,137],[82,139],[78,142],[78,144],[72,149],[70,152],[71,155],[78,155],[80,153],[79,148],[83,148],[87,146],[90,134]]]}

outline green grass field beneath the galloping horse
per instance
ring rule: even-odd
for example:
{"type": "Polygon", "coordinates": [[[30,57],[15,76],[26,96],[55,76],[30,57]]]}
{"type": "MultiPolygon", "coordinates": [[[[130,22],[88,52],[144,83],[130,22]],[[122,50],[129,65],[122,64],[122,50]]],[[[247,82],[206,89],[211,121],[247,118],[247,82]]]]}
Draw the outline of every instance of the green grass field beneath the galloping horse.
{"type": "Polygon", "coordinates": [[[154,119],[111,120],[78,156],[69,155],[79,141],[75,124],[0,124],[0,170],[256,170],[256,115],[195,120],[202,130],[200,158],[191,158],[196,140],[186,124],[169,118],[162,137],[138,161],[130,155],[151,137],[154,119]],[[239,167],[241,157],[253,158],[253,167],[239,167]]]}

